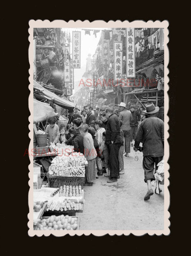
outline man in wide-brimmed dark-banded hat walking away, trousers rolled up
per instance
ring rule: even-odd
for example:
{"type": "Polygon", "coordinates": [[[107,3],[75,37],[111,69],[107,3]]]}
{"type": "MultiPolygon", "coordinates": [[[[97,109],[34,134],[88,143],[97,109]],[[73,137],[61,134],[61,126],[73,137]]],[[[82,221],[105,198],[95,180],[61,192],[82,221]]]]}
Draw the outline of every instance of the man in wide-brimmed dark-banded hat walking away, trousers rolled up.
{"type": "MultiPolygon", "coordinates": [[[[164,122],[157,118],[154,114],[159,111],[159,107],[155,107],[153,103],[145,104],[147,114],[139,126],[135,137],[134,150],[138,151],[140,142],[144,143],[143,147],[143,169],[144,181],[147,183],[148,191],[144,200],[148,200],[153,195],[151,181],[154,180],[154,164],[157,170],[157,164],[162,161],[164,156],[164,122]]],[[[159,193],[162,190],[159,188],[159,193]]]]}

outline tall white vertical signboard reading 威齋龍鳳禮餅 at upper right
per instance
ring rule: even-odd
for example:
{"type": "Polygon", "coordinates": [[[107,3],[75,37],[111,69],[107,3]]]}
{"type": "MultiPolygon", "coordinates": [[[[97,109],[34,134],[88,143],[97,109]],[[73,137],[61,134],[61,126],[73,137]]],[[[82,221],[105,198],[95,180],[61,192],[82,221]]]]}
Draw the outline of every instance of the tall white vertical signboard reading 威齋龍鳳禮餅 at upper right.
{"type": "Polygon", "coordinates": [[[126,77],[135,77],[134,28],[126,28],[126,77]]]}

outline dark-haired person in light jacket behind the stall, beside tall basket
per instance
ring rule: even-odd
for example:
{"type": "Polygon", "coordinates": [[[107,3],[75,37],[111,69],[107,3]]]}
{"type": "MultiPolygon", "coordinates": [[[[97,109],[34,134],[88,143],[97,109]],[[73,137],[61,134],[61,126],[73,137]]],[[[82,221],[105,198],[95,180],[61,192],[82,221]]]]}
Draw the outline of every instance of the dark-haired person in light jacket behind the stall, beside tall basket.
{"type": "Polygon", "coordinates": [[[51,145],[51,143],[53,143],[55,145],[59,141],[59,127],[56,124],[56,118],[54,117],[50,118],[48,122],[49,125],[47,125],[45,129],[45,133],[48,134],[48,144],[51,145]]]}

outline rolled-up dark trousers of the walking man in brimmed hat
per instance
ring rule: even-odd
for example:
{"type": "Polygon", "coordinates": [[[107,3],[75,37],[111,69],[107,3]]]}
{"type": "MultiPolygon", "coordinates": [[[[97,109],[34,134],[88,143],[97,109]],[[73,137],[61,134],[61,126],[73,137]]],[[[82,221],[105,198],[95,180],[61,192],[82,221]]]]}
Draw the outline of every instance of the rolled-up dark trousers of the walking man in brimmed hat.
{"type": "Polygon", "coordinates": [[[163,156],[161,157],[143,157],[143,169],[144,169],[144,182],[147,182],[147,180],[154,180],[154,164],[155,164],[155,170],[158,169],[157,164],[161,162],[163,159],[163,156]]]}

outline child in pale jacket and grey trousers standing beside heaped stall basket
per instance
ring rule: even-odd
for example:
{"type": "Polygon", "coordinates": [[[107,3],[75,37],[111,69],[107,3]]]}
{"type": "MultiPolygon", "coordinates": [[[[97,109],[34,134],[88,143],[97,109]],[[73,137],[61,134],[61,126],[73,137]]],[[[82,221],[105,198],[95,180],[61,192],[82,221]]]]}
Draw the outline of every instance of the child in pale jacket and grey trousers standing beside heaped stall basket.
{"type": "Polygon", "coordinates": [[[84,145],[84,156],[88,161],[88,166],[86,167],[86,183],[85,186],[92,186],[95,174],[95,161],[97,157],[97,152],[94,147],[94,140],[90,133],[88,133],[87,124],[80,125],[80,133],[83,134],[83,145],[84,145]]]}

